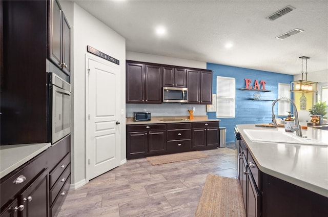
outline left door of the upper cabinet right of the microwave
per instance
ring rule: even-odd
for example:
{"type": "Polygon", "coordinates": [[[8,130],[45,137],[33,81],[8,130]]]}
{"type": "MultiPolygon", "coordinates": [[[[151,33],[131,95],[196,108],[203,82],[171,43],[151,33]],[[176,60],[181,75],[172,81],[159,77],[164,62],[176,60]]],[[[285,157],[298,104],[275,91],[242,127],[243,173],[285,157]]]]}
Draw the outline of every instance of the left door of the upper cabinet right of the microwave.
{"type": "Polygon", "coordinates": [[[200,71],[187,70],[188,103],[200,103],[200,71]]]}

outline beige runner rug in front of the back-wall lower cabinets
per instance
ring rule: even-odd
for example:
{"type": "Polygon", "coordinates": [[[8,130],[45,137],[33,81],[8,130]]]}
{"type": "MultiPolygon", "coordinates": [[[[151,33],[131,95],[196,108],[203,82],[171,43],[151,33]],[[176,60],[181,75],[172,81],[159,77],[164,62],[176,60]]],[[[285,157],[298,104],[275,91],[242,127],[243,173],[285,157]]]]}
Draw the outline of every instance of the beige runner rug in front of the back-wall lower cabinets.
{"type": "Polygon", "coordinates": [[[146,159],[152,165],[159,165],[159,164],[173,163],[178,161],[186,161],[186,160],[207,158],[207,157],[209,156],[201,153],[200,151],[189,151],[189,152],[170,154],[170,155],[152,156],[152,157],[147,157],[146,159]]]}

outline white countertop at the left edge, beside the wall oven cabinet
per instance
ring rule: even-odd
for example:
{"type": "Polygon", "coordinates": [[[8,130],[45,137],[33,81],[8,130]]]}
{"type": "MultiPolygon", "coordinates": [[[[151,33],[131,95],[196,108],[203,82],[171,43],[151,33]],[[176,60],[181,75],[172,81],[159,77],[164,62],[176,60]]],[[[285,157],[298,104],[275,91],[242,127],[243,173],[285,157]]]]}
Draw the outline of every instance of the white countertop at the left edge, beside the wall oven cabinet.
{"type": "Polygon", "coordinates": [[[0,178],[28,162],[42,151],[51,146],[51,143],[34,143],[0,146],[0,178]]]}

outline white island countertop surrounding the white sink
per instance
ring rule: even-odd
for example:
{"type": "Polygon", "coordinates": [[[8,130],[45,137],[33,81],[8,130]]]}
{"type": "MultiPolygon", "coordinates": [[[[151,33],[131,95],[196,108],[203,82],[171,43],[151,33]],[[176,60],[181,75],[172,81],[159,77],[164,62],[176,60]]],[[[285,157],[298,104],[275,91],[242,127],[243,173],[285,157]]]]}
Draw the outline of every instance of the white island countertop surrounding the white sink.
{"type": "MultiPolygon", "coordinates": [[[[244,129],[284,132],[284,128],[256,127],[255,124],[236,126],[262,172],[328,197],[328,146],[253,142],[244,129]]],[[[328,140],[328,131],[308,127],[302,132],[322,142],[328,140]]]]}

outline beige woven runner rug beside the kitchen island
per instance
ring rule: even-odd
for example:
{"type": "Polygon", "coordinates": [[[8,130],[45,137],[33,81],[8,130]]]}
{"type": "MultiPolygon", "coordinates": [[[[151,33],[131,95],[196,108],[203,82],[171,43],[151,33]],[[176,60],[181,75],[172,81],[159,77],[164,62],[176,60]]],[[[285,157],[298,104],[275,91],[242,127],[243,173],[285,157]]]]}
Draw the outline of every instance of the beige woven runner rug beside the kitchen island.
{"type": "Polygon", "coordinates": [[[209,174],[195,217],[245,217],[241,188],[237,179],[209,174]]]}

